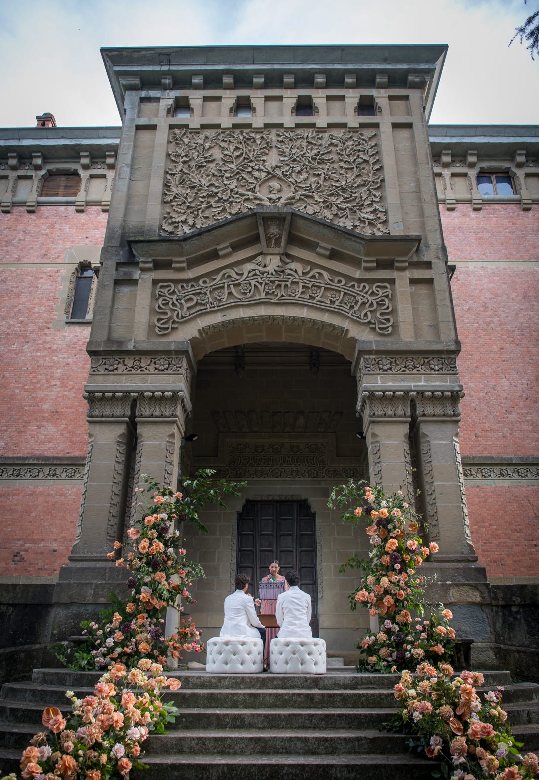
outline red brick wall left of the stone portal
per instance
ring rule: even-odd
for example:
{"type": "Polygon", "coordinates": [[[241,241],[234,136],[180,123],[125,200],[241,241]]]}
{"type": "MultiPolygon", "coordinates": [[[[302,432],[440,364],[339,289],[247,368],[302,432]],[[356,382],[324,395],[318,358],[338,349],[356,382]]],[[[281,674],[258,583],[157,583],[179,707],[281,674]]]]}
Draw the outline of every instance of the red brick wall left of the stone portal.
{"type": "MultiPolygon", "coordinates": [[[[99,207],[16,207],[0,215],[0,454],[86,457],[86,402],[90,360],[87,326],[52,330],[58,316],[64,252],[103,243],[107,215],[99,207]],[[25,264],[10,267],[6,264],[25,264]],[[61,264],[51,268],[51,264],[61,264]],[[35,264],[34,268],[26,264],[35,264]],[[47,264],[47,265],[43,265],[47,264]]],[[[0,512],[3,576],[52,576],[73,545],[80,484],[5,486],[0,512]]]]}

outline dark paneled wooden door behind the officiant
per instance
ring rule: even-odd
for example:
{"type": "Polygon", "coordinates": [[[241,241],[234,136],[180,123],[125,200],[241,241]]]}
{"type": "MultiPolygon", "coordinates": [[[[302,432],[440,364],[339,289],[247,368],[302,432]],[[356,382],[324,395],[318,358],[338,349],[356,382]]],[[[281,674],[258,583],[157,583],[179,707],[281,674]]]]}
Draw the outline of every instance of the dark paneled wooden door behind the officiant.
{"type": "Polygon", "coordinates": [[[313,602],[313,635],[318,636],[316,516],[304,501],[248,501],[238,513],[236,571],[250,576],[249,592],[277,559],[281,574],[300,573],[300,587],[313,602]]]}

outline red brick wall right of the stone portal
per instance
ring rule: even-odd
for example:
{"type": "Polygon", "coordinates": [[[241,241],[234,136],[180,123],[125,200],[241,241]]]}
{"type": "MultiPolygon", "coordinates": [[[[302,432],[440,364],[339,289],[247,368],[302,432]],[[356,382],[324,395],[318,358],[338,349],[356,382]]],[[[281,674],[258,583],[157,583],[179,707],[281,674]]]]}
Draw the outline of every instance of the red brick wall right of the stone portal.
{"type": "MultiPolygon", "coordinates": [[[[441,211],[452,278],[466,456],[539,456],[539,209],[489,204],[441,211]],[[461,265],[459,263],[473,263],[461,265]]],[[[466,488],[470,526],[489,576],[537,576],[539,488],[466,488]],[[534,496],[534,501],[532,500],[534,496]],[[535,520],[534,520],[535,516],[535,520]],[[516,534],[509,527],[518,524],[516,534]],[[527,540],[527,544],[524,542],[527,540]]]]}

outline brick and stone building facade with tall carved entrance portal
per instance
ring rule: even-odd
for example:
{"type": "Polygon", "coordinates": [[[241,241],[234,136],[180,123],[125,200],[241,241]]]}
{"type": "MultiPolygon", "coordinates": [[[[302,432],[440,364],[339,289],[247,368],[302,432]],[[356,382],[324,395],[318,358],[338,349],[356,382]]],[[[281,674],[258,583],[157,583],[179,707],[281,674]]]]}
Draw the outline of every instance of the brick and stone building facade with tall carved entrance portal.
{"type": "Polygon", "coordinates": [[[427,128],[445,49],[388,51],[176,49],[165,73],[162,51],[105,50],[121,135],[0,130],[0,579],[18,605],[5,612],[8,654],[23,645],[33,663],[59,622],[73,629],[106,600],[105,551],[129,523],[140,470],[174,479],[215,466],[247,488],[228,513],[206,513],[210,541],[185,530],[207,573],[197,623],[210,635],[239,566],[237,516],[307,502],[320,633],[332,651],[353,647],[363,618],[349,614],[338,568],[364,545],[326,501],[332,484],[364,476],[422,489],[438,589],[477,662],[508,665],[507,647],[526,656],[527,640],[500,624],[537,602],[539,128],[427,128]],[[238,138],[259,155],[257,191],[227,211],[238,138]],[[201,144],[211,182],[190,165],[201,144]],[[328,163],[330,147],[343,157],[328,163]],[[371,194],[344,215],[345,168],[327,182],[357,147],[371,194]],[[317,165],[302,197],[294,154],[317,165]],[[221,186],[209,208],[208,182],[221,186]],[[264,295],[223,298],[267,268],[308,288],[307,303],[271,300],[268,277],[264,295]],[[363,283],[375,314],[339,310],[335,274],[349,291],[363,283]],[[167,285],[185,278],[195,297],[176,316],[167,285]],[[214,304],[197,308],[207,278],[214,304]],[[40,603],[39,635],[17,633],[14,615],[40,603]]]}

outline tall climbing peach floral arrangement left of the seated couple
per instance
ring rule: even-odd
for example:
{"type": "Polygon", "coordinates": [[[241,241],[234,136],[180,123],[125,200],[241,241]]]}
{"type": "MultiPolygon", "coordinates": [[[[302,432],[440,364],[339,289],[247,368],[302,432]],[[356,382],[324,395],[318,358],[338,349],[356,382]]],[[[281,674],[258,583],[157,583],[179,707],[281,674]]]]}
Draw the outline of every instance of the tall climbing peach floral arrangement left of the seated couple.
{"type": "Polygon", "coordinates": [[[110,594],[112,609],[102,612],[98,620],[81,624],[87,642],[76,649],[56,647],[60,661],[77,670],[104,669],[113,663],[130,668],[141,659],[166,665],[168,656],[181,660],[182,651],[204,651],[201,632],[191,618],[183,619],[169,636],[165,636],[165,620],[168,607],[175,607],[179,600],[195,603],[190,587],[204,576],[200,564],[187,560],[175,526],[188,520],[207,532],[198,518],[200,507],[205,502],[225,506],[224,494],[239,495],[239,483],[225,480],[214,483],[211,480],[214,473],[201,470],[193,480],[184,480],[186,495],[170,487],[163,488],[143,475],[147,488],[133,491],[142,517],[127,530],[130,549],[127,551],[115,541],[114,549],[107,555],[115,566],[129,573],[126,580],[129,597],[124,603],[110,594]]]}

